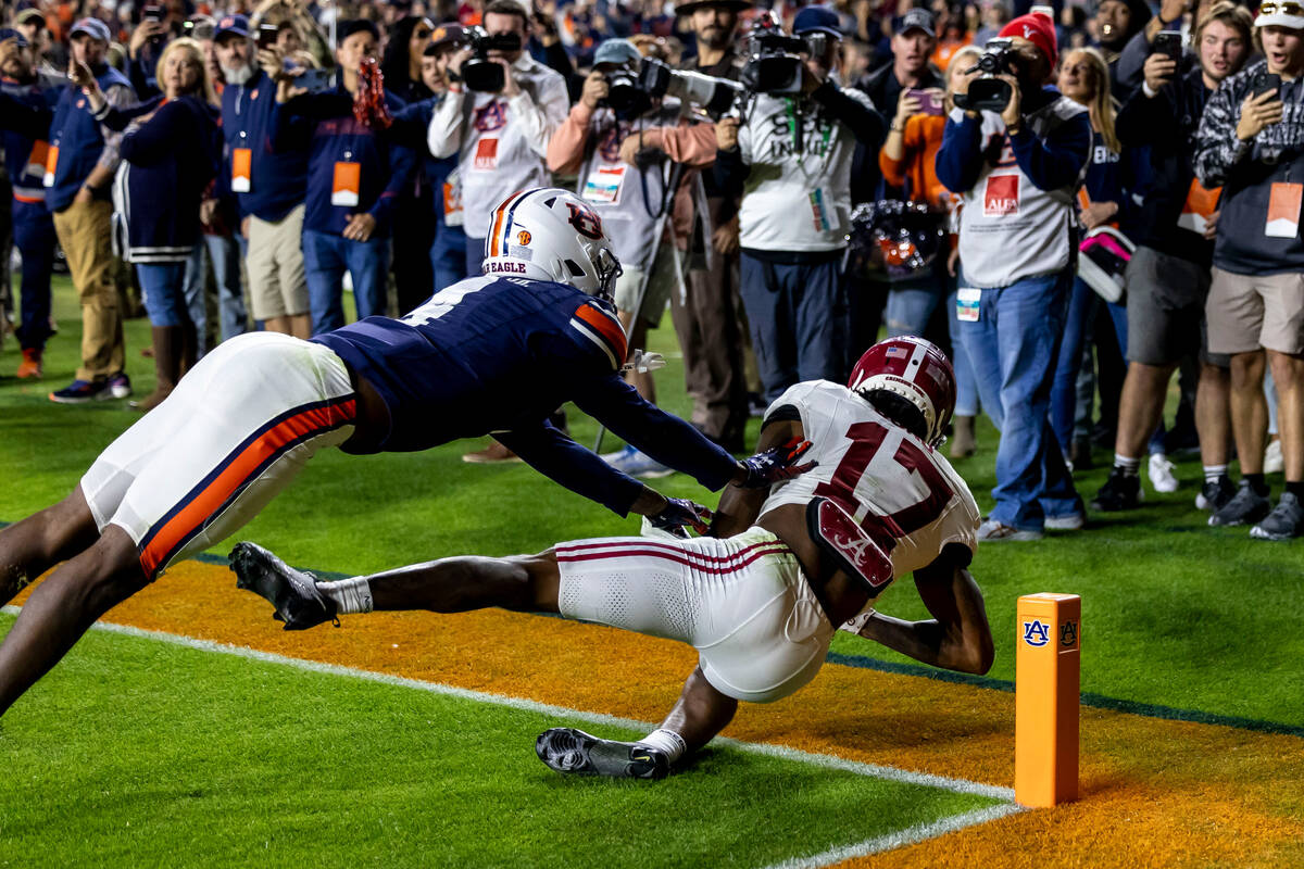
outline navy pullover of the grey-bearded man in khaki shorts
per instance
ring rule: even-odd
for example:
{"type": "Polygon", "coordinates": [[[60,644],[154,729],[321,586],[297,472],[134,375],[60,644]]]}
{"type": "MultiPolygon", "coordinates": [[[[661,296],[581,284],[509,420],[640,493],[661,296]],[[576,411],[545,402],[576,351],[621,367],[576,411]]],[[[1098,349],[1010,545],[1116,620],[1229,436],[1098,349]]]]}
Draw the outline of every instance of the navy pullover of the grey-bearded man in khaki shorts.
{"type": "Polygon", "coordinates": [[[232,159],[239,149],[249,150],[249,190],[236,190],[240,216],[276,221],[304,201],[308,193],[308,151],[271,147],[275,130],[276,83],[261,69],[244,85],[227,85],[222,91],[222,132],[226,154],[222,160],[223,186],[231,188],[232,159]]]}

